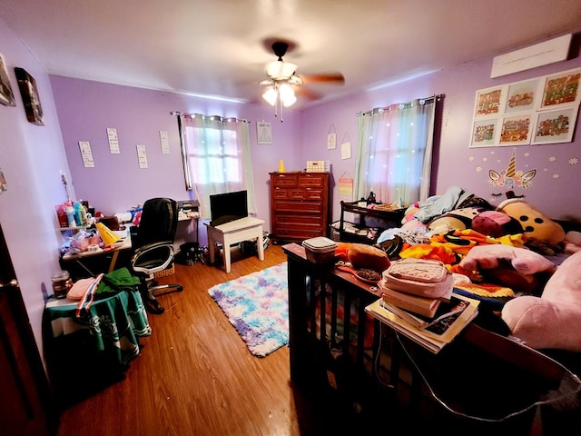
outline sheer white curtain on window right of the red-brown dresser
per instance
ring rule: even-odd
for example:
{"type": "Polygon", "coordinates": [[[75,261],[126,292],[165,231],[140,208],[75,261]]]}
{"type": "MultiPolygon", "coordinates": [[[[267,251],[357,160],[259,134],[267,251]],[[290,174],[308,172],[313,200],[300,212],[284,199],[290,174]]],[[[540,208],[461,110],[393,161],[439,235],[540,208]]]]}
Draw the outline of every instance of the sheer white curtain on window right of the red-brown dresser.
{"type": "Polygon", "coordinates": [[[354,200],[410,204],[429,196],[436,102],[391,104],[358,115],[354,200]]]}

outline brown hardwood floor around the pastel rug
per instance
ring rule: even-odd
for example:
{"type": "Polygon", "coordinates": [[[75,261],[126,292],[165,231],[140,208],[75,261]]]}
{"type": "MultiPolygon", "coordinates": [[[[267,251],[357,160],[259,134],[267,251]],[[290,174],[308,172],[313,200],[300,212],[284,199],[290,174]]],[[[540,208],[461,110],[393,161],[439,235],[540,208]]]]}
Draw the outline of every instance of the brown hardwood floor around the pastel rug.
{"type": "Polygon", "coordinates": [[[176,264],[158,282],[182,283],[183,291],[159,297],[165,312],[149,315],[153,333],[142,339],[142,354],[124,380],[64,410],[58,436],[326,433],[335,411],[292,388],[288,348],[252,356],[207,293],[284,261],[272,245],[263,262],[234,250],[230,274],[222,265],[176,264]]]}

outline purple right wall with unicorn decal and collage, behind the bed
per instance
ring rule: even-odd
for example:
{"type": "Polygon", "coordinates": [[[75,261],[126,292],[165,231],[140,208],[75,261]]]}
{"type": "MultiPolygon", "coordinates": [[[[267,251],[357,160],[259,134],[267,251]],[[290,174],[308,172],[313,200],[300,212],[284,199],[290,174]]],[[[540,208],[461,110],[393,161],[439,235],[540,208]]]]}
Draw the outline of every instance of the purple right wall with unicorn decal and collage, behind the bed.
{"type": "MultiPolygon", "coordinates": [[[[359,111],[393,103],[407,102],[433,94],[445,94],[441,141],[439,145],[438,173],[433,193],[445,193],[449,186],[457,185],[465,190],[497,204],[506,199],[509,187],[493,187],[488,184],[488,170],[498,172],[507,168],[513,152],[517,157],[517,170],[524,172],[537,169],[533,184],[527,189],[515,187],[517,195],[526,195],[528,203],[558,219],[581,220],[581,202],[576,187],[581,185],[581,126],[576,126],[574,141],[567,144],[527,145],[517,147],[469,148],[472,113],[478,89],[499,84],[509,84],[546,74],[581,66],[579,40],[574,38],[573,49],[566,62],[550,64],[517,74],[490,78],[492,58],[461,64],[455,68],[438,71],[401,84],[395,84],[372,93],[361,93],[339,102],[321,105],[303,114],[301,139],[304,153],[314,154],[317,159],[330,160],[333,179],[338,183],[341,175],[355,175],[355,147],[357,143],[357,117],[359,111]],[[326,150],[326,138],[334,124],[338,143],[350,138],[353,157],[341,160],[340,149],[326,150]],[[497,198],[493,194],[501,193],[497,198]]],[[[389,65],[386,65],[389,67],[389,65]]],[[[579,115],[577,114],[577,120],[579,115]]],[[[310,159],[310,157],[308,157],[310,159]]],[[[337,186],[333,197],[333,216],[338,219],[340,200],[337,186]]]]}

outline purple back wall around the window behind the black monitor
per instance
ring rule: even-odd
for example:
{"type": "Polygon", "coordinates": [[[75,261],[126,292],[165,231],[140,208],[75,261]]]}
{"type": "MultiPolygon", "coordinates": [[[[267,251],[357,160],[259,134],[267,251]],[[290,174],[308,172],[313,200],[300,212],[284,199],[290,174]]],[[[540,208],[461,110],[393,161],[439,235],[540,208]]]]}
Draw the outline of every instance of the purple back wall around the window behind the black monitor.
{"type": "MultiPolygon", "coordinates": [[[[105,214],[127,211],[150,197],[169,196],[190,199],[186,191],[180,138],[173,111],[221,115],[251,120],[252,172],[256,189],[258,217],[269,218],[269,172],[276,171],[283,159],[287,171],[305,167],[300,149],[300,114],[288,111],[284,123],[274,118],[267,105],[231,104],[203,100],[187,95],[170,94],[113,84],[101,84],[51,76],[54,101],[62,121],[67,159],[74,189],[79,199],[89,200],[105,214]],[[257,144],[256,121],[271,121],[272,144],[257,144]],[[111,154],[107,127],[117,129],[120,154],[111,154]],[[166,130],[170,154],[162,154],[159,131],[166,130]],[[84,168],[79,141],[89,141],[94,168],[84,168]],[[136,145],[144,144],[148,168],[137,162],[136,145]]],[[[204,227],[200,239],[205,243],[204,227]]],[[[176,244],[195,241],[193,225],[180,225],[176,244]]]]}

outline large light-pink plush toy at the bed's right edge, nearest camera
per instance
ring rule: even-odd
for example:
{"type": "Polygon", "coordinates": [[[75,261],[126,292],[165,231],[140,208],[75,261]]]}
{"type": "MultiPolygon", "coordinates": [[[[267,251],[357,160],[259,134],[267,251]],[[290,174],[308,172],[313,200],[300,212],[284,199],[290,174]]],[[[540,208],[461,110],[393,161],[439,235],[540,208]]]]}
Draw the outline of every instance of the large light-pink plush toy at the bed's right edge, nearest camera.
{"type": "Polygon", "coordinates": [[[581,252],[556,269],[540,297],[507,302],[502,319],[531,348],[581,352],[581,252]]]}

